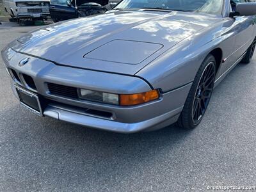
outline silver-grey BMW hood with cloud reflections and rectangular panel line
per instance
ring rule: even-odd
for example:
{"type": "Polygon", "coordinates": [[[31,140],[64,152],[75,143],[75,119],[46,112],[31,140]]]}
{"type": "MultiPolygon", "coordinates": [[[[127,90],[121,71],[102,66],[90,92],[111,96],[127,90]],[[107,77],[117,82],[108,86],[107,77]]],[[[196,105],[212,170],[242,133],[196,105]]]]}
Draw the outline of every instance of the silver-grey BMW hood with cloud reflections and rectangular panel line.
{"type": "Polygon", "coordinates": [[[218,20],[196,13],[113,11],[47,26],[11,47],[60,65],[133,75],[218,20]]]}

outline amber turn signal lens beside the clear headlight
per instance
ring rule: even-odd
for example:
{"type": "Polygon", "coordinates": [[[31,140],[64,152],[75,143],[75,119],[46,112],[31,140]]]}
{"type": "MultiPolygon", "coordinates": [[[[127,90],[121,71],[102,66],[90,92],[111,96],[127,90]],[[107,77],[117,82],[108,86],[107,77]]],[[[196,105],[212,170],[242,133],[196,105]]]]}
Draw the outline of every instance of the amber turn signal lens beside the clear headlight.
{"type": "Polygon", "coordinates": [[[145,93],[136,93],[131,95],[120,95],[120,105],[121,106],[134,106],[138,104],[143,104],[149,102],[150,100],[156,100],[159,98],[159,92],[157,90],[152,90],[145,93]]]}

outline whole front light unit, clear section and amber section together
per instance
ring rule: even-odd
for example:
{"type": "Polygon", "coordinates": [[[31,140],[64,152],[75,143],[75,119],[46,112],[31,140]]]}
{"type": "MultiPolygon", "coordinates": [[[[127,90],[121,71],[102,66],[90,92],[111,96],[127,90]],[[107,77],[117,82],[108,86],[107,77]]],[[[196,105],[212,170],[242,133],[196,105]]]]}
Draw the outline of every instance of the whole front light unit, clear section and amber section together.
{"type": "Polygon", "coordinates": [[[152,100],[159,99],[159,91],[151,90],[144,93],[135,94],[114,94],[114,93],[104,93],[92,90],[79,90],[79,98],[85,100],[92,100],[95,102],[104,102],[107,104],[115,104],[120,106],[134,106],[138,104],[143,104],[150,102],[152,100]]]}

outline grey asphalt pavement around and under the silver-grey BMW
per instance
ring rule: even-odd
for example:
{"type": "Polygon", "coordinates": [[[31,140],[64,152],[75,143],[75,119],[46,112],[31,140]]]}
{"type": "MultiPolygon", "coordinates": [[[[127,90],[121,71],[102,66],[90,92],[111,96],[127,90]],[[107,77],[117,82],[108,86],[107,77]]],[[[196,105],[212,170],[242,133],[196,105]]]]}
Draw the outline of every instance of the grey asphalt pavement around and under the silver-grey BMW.
{"type": "MultiPolygon", "coordinates": [[[[3,22],[0,49],[36,27],[3,22]]],[[[214,90],[192,131],[118,134],[40,118],[0,58],[0,191],[207,191],[256,186],[256,59],[214,90]]]]}

